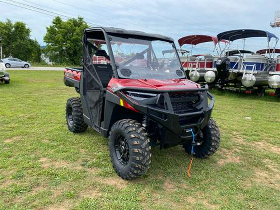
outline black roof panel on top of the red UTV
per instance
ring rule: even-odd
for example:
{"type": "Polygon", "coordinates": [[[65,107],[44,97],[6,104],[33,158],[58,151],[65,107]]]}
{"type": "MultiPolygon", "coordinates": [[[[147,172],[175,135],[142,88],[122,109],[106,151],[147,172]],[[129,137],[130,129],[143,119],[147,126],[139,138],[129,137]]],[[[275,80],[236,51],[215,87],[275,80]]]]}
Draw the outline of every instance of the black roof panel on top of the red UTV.
{"type": "Polygon", "coordinates": [[[137,30],[125,30],[122,28],[113,28],[113,27],[91,27],[87,28],[86,31],[91,31],[91,30],[104,30],[108,34],[123,34],[123,35],[132,35],[132,36],[144,36],[144,37],[151,37],[154,39],[160,39],[160,40],[167,40],[167,41],[172,41],[174,40],[169,37],[169,36],[163,36],[159,34],[149,34],[146,32],[142,31],[137,31],[137,30]]]}

